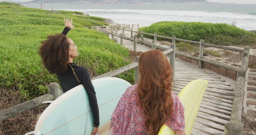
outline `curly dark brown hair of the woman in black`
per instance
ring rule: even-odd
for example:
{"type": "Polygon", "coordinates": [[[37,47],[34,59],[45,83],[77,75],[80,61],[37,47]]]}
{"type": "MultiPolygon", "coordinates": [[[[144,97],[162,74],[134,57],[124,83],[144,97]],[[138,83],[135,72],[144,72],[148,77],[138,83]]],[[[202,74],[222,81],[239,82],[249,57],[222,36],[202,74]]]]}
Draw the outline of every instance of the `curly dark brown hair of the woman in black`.
{"type": "Polygon", "coordinates": [[[39,48],[44,67],[50,73],[56,75],[65,74],[68,69],[70,42],[64,34],[56,34],[47,37],[39,48]]]}

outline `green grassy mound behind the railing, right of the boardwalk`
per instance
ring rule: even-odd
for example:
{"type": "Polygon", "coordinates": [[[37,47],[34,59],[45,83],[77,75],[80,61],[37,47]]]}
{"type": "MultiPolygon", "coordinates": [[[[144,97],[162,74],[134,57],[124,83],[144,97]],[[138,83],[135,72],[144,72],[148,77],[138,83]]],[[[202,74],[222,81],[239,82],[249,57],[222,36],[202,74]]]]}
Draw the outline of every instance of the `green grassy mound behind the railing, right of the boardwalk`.
{"type": "MultiPolygon", "coordinates": [[[[203,22],[157,22],[139,31],[157,33],[162,36],[176,36],[176,38],[200,41],[223,46],[247,45],[253,47],[256,44],[256,34],[230,26],[228,24],[213,24],[203,22]]],[[[152,36],[144,37],[152,38],[152,36]]],[[[158,38],[163,40],[161,38],[158,38]]],[[[254,46],[255,47],[255,46],[254,46]]]]}

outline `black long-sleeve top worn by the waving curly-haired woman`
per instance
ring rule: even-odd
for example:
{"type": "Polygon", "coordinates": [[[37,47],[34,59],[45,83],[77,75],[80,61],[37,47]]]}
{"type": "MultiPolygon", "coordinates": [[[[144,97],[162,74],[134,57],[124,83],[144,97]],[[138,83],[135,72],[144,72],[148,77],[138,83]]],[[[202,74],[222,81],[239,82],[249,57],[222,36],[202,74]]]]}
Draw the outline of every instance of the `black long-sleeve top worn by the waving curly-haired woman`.
{"type": "MultiPolygon", "coordinates": [[[[65,27],[62,34],[66,35],[69,30],[70,28],[65,27]]],[[[100,125],[100,119],[96,92],[94,91],[87,69],[85,67],[77,66],[75,63],[69,63],[67,73],[64,75],[57,75],[57,78],[60,81],[64,93],[80,84],[84,86],[92,108],[94,127],[98,127],[100,125]]]]}

